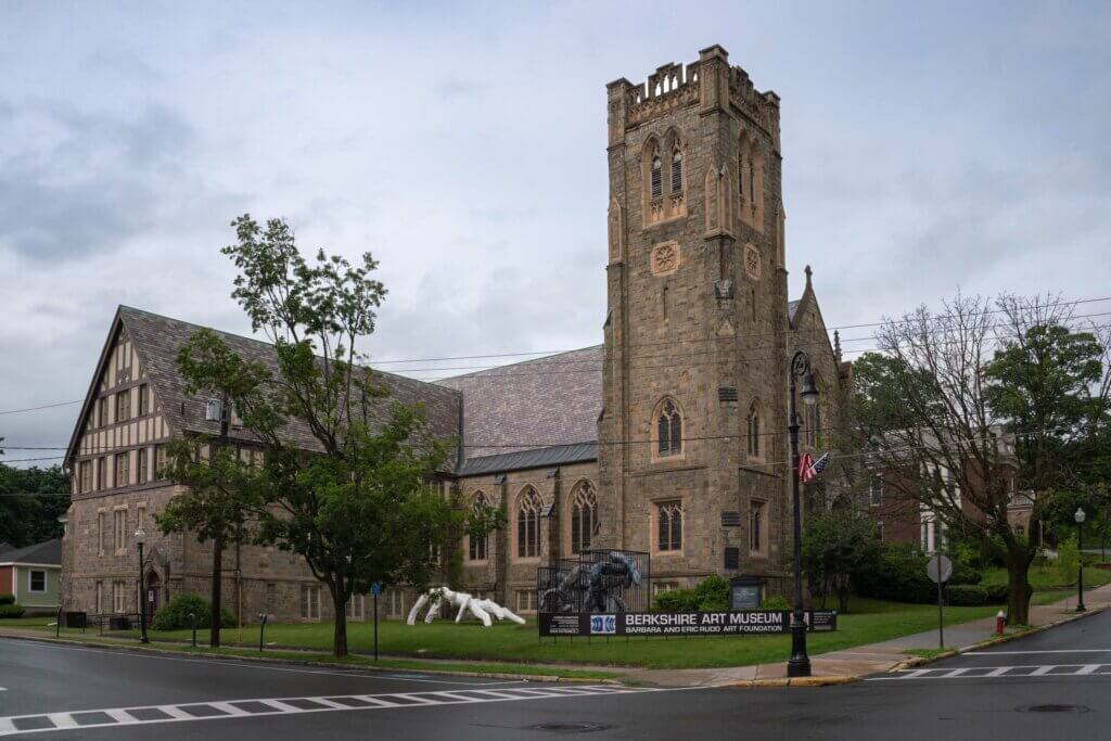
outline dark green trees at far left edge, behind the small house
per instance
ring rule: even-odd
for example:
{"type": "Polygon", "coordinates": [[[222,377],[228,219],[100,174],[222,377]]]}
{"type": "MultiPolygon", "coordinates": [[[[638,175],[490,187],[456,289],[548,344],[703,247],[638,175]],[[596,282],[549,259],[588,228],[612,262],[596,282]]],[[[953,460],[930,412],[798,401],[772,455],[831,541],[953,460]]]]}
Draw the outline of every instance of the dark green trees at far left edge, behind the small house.
{"type": "MultiPolygon", "coordinates": [[[[0,438],[0,455],[3,438],[0,438]]],[[[0,462],[0,543],[24,548],[60,538],[70,477],[59,465],[20,469],[0,462]]]]}

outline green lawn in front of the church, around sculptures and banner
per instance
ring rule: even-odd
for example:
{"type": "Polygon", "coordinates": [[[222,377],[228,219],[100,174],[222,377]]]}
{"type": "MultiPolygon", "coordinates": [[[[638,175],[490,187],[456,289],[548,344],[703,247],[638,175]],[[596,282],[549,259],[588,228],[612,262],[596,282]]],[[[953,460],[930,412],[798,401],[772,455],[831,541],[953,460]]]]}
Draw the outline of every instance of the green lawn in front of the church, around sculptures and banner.
{"type": "MultiPolygon", "coordinates": [[[[901,604],[879,600],[853,599],[853,612],[839,615],[834,633],[811,633],[811,653],[883,641],[937,625],[937,607],[901,604]]],[[[994,614],[998,608],[948,608],[945,622],[954,624],[994,614]]],[[[348,623],[352,651],[368,653],[373,633],[371,623],[348,623]]],[[[70,632],[70,631],[63,631],[70,632]]],[[[152,632],[153,639],[187,640],[189,631],[152,632]]],[[[199,632],[201,641],[207,639],[199,632]]],[[[223,631],[226,645],[257,647],[258,625],[223,631]]],[[[328,651],[331,623],[277,623],[267,625],[268,652],[298,648],[328,651]]],[[[645,667],[679,669],[695,667],[739,667],[783,661],[790,653],[790,635],[744,635],[700,638],[567,639],[541,641],[536,623],[500,624],[482,628],[478,623],[457,625],[437,621],[431,625],[406,625],[399,621],[379,623],[379,649],[391,657],[417,659],[469,659],[487,662],[578,663],[601,667],[645,667]]],[[[257,652],[256,652],[257,655],[257,652]]],[[[563,672],[560,672],[561,674],[563,672]]]]}

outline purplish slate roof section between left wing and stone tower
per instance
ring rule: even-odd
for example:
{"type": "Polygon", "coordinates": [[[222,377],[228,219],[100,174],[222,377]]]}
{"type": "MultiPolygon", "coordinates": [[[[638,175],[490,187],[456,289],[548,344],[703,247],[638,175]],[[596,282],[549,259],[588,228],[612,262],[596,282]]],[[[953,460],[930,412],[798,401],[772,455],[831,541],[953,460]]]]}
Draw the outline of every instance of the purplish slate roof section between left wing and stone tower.
{"type": "Polygon", "coordinates": [[[462,392],[463,459],[595,443],[602,352],[599,344],[437,381],[462,392]]]}

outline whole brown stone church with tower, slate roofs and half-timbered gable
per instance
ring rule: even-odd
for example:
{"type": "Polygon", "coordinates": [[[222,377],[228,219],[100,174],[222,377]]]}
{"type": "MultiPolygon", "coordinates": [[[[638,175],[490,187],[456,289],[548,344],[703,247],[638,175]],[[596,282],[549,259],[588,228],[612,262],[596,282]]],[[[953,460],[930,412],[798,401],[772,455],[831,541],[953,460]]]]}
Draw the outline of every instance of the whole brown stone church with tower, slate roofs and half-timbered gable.
{"type": "MultiPolygon", "coordinates": [[[[588,548],[651,553],[653,593],[709,574],[790,584],[788,380],[805,350],[821,397],[803,450],[820,451],[841,414],[848,364],[831,344],[807,269],[788,297],[780,99],[759,92],[714,46],[633,84],[607,87],[608,307],[602,344],[436,383],[384,374],[393,397],[426,405],[459,440],[437,485],[508,523],[464,539],[464,589],[523,613],[538,567],[588,548]]],[[[599,277],[601,279],[601,276],[599,277]]],[[[197,329],[120,307],[67,452],[73,502],[63,542],[68,610],[136,612],[133,533],[148,533],[151,607],[206,595],[211,551],[163,537],[152,514],[179,491],[159,480],[162,443],[218,432],[208,399],[187,393],[174,354],[197,329]]],[[[270,346],[223,334],[273,362],[270,346]]],[[[232,420],[231,438],[253,455],[232,420]]],[[[814,492],[810,492],[813,495],[814,492]]],[[[243,544],[224,551],[224,601],[244,622],[330,617],[299,557],[243,544]]],[[[368,599],[348,605],[368,614],[368,599]]],[[[401,617],[411,594],[390,589],[401,617]]]]}

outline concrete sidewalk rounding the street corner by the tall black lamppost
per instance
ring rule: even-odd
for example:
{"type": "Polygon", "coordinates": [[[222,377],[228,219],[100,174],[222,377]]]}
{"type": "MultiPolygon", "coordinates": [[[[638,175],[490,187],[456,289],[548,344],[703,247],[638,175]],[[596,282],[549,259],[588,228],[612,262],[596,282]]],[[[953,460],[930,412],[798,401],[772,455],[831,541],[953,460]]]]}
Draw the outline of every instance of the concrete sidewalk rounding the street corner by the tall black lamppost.
{"type": "MultiPolygon", "coordinates": [[[[1089,611],[1093,612],[1111,607],[1111,584],[1085,592],[1084,604],[1089,611]]],[[[1030,625],[1043,627],[1074,617],[1077,614],[1075,607],[1074,598],[1052,604],[1031,605],[1030,625]]],[[[973,620],[958,625],[945,625],[945,647],[950,649],[970,648],[992,638],[994,633],[994,618],[973,620]]],[[[939,648],[937,629],[912,633],[880,643],[811,655],[811,673],[813,677],[841,679],[874,674],[890,671],[903,661],[918,658],[918,654],[911,653],[913,650],[937,648],[939,648]]],[[[785,677],[787,662],[784,661],[782,663],[722,669],[634,669],[625,672],[623,679],[659,687],[720,687],[760,680],[779,680],[785,677]]]]}

